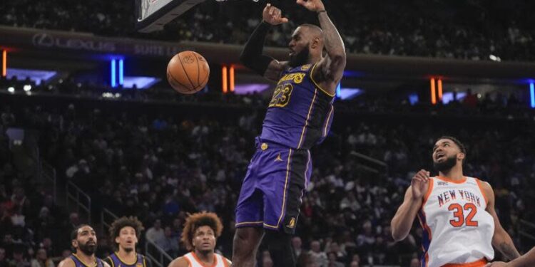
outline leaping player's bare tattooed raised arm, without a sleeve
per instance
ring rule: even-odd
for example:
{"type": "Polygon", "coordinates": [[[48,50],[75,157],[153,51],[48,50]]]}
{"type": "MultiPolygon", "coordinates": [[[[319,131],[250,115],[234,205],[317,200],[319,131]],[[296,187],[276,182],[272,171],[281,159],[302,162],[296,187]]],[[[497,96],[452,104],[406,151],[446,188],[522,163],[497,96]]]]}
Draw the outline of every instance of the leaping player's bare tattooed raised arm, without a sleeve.
{"type": "Polygon", "coordinates": [[[323,41],[327,56],[317,63],[315,72],[312,73],[314,80],[327,90],[327,93],[335,95],[336,86],[340,83],[346,63],[345,46],[342,36],[338,33],[335,24],[329,19],[325,6],[321,0],[297,0],[297,4],[305,6],[310,11],[317,12],[320,27],[323,31],[323,41]]]}

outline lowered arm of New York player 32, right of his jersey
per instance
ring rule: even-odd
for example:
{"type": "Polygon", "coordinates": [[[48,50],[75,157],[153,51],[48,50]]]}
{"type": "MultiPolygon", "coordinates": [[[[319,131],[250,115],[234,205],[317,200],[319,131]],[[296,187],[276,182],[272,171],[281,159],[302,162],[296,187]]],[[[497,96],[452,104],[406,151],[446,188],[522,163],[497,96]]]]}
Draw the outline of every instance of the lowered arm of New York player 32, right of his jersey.
{"type": "Polygon", "coordinates": [[[511,236],[509,236],[504,227],[501,226],[498,216],[496,215],[496,210],[494,209],[494,191],[487,182],[481,182],[481,187],[483,187],[487,201],[489,201],[486,204],[486,211],[488,211],[494,219],[494,235],[492,236],[492,246],[498,249],[509,260],[514,260],[520,256],[520,253],[514,247],[511,236]]]}

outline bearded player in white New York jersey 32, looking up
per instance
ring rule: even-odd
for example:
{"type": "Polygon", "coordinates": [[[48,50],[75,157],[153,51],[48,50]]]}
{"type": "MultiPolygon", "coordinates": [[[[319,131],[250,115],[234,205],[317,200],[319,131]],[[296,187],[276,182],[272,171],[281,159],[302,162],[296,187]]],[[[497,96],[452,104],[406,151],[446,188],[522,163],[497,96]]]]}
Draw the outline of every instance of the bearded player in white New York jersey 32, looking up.
{"type": "Polygon", "coordinates": [[[513,241],[494,211],[490,184],[466,177],[464,145],[454,137],[440,137],[433,147],[439,175],[422,169],[412,177],[404,201],[392,219],[392,237],[407,237],[418,215],[423,228],[423,267],[485,266],[498,249],[506,258],[519,257],[513,241]]]}

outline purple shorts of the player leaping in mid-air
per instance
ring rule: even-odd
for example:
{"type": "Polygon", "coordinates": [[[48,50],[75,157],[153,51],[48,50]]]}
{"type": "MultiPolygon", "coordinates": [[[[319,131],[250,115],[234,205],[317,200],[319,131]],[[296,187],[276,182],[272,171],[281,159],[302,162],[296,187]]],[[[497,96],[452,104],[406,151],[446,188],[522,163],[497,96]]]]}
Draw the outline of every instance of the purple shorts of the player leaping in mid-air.
{"type": "Polygon", "coordinates": [[[256,152],[243,179],[236,227],[295,232],[312,160],[309,150],[294,150],[256,138],[256,152]]]}

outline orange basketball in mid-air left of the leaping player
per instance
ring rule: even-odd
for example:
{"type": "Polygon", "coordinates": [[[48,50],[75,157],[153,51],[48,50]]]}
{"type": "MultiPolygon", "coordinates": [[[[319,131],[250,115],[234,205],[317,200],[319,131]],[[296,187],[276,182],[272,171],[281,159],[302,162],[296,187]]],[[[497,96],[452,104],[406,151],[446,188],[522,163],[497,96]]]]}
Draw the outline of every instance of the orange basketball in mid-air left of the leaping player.
{"type": "Polygon", "coordinates": [[[169,61],[167,80],[178,93],[193,94],[208,83],[210,67],[203,56],[193,51],[182,51],[169,61]]]}

